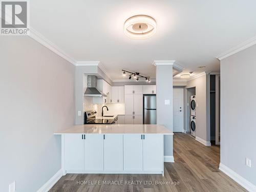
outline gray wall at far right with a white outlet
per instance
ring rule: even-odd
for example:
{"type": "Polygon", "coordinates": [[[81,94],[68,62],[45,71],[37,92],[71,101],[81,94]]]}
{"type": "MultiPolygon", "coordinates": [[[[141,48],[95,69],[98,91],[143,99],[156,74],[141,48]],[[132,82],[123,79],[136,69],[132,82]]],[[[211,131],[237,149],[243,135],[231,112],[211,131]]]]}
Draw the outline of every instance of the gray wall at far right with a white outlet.
{"type": "Polygon", "coordinates": [[[256,46],[221,60],[221,163],[256,185],[256,46]],[[251,159],[252,167],[245,165],[251,159]]]}

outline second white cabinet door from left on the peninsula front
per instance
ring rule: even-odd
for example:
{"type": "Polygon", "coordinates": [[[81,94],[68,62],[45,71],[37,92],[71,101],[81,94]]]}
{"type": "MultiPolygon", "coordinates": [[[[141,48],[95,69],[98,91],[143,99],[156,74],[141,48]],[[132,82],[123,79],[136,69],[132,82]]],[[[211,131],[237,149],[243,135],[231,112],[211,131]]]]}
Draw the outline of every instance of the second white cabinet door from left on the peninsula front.
{"type": "Polygon", "coordinates": [[[84,139],[84,170],[103,170],[103,135],[86,134],[84,139]]]}

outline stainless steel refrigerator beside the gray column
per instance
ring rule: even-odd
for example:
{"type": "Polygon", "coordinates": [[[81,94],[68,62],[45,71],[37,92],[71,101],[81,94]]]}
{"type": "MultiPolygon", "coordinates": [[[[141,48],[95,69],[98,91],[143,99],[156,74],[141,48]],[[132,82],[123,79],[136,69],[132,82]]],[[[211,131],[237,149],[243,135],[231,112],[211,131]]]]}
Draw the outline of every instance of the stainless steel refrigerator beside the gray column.
{"type": "Polygon", "coordinates": [[[143,124],[157,124],[156,95],[143,95],[143,124]]]}

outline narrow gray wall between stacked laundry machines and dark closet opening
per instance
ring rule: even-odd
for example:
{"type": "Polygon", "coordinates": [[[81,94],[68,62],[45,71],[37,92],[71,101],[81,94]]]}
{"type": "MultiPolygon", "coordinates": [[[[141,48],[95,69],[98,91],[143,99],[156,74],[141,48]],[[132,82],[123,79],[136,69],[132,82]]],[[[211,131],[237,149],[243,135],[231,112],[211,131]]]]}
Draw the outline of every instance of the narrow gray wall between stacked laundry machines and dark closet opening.
{"type": "MultiPolygon", "coordinates": [[[[204,74],[201,77],[192,79],[187,81],[186,88],[196,87],[196,100],[197,100],[197,108],[196,108],[196,122],[197,122],[197,130],[196,136],[200,137],[205,141],[210,141],[210,127],[207,122],[207,75],[204,74]]],[[[190,100],[188,100],[190,102],[190,100]]]]}

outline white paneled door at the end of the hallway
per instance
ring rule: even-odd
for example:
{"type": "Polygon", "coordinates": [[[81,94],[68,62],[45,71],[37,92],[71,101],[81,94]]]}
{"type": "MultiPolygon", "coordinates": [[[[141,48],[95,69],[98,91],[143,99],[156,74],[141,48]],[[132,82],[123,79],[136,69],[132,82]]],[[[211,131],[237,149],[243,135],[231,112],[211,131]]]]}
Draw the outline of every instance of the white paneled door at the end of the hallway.
{"type": "Polygon", "coordinates": [[[173,90],[174,132],[183,132],[183,89],[173,90]]]}

